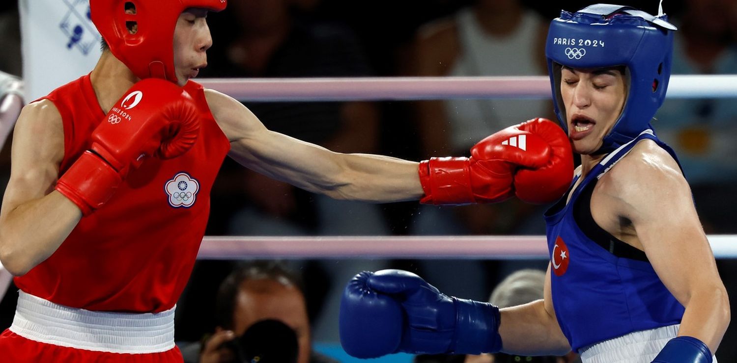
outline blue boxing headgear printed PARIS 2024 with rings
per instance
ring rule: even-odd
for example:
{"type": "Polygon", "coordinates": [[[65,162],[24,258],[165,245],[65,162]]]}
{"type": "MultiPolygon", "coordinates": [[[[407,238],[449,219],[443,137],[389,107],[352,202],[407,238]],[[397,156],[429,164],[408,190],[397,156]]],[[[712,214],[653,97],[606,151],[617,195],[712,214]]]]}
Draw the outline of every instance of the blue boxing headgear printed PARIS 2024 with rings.
{"type": "Polygon", "coordinates": [[[629,92],[621,115],[596,154],[611,152],[652,128],[650,120],[666,99],[671,76],[673,31],[666,15],[654,16],[633,7],[595,4],[576,13],[562,11],[553,19],[545,57],[555,112],[568,130],[560,94],[560,71],[569,68],[624,66],[629,92]]]}

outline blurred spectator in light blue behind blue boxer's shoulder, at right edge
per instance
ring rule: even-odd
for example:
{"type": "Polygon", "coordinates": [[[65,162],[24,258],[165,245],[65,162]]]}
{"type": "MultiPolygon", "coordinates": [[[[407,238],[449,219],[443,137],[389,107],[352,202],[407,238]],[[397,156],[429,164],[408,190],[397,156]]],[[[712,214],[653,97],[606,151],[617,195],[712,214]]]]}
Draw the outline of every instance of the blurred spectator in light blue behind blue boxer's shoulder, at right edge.
{"type": "MultiPolygon", "coordinates": [[[[737,1],[686,0],[674,34],[672,74],[737,74],[737,1]],[[687,15],[687,16],[686,16],[687,15]]],[[[654,124],[680,156],[707,233],[736,233],[737,103],[666,99],[654,124]],[[657,121],[656,121],[657,122],[657,121]]]]}

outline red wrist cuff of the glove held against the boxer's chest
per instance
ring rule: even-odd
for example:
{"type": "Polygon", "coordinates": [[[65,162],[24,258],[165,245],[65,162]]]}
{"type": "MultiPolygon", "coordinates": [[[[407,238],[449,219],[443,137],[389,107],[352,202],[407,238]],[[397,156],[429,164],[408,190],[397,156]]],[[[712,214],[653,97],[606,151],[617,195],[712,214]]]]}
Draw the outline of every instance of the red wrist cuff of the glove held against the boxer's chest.
{"type": "Polygon", "coordinates": [[[86,151],[59,178],[55,188],[88,216],[115,194],[121,181],[109,163],[86,151]]]}

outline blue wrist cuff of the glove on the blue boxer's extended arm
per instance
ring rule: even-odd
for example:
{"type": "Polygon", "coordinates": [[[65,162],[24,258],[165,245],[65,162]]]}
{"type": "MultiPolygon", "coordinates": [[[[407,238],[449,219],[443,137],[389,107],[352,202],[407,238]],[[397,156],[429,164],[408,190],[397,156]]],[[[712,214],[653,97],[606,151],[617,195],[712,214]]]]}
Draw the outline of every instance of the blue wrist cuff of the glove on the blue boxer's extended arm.
{"type": "Polygon", "coordinates": [[[502,349],[499,308],[490,303],[453,297],[455,337],[453,353],[497,353],[502,349]]]}

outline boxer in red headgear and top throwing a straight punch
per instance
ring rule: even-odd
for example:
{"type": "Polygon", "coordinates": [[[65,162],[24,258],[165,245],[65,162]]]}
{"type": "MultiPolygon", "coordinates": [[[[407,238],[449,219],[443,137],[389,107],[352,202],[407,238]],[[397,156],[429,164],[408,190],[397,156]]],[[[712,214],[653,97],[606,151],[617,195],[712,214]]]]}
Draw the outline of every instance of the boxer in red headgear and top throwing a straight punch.
{"type": "Polygon", "coordinates": [[[175,303],[226,155],[366,202],[549,202],[572,179],[567,137],[543,119],[485,138],[471,158],[419,164],[273,133],[240,102],[189,80],[212,46],[206,15],[226,0],[90,6],[107,48],[99,63],[24,108],[15,127],[0,211],[0,259],[21,289],[0,336],[8,362],[181,362],[175,303]]]}

